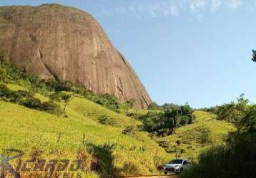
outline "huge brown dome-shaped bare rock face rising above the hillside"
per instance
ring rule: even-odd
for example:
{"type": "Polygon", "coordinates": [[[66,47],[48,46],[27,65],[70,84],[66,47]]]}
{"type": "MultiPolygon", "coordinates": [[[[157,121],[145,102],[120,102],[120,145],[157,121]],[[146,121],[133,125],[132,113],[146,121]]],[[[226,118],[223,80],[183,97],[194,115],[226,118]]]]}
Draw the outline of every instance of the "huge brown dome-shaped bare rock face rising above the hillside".
{"type": "Polygon", "coordinates": [[[0,7],[0,51],[41,78],[72,80],[137,108],[152,103],[127,60],[89,14],[57,4],[0,7]]]}

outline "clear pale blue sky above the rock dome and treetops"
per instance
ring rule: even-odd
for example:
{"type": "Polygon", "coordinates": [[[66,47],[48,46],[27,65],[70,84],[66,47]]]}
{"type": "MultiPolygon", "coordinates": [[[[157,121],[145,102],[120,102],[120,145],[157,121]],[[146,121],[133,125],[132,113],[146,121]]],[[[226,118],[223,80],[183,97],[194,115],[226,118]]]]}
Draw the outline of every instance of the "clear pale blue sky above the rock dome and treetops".
{"type": "Polygon", "coordinates": [[[0,1],[44,3],[92,14],[159,104],[256,103],[256,0],[0,1]]]}

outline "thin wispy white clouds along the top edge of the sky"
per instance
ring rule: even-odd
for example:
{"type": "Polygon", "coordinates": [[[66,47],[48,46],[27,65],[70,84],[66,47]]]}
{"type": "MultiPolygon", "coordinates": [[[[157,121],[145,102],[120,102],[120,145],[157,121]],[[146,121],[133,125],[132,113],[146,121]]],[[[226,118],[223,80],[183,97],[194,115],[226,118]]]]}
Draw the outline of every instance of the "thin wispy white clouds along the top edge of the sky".
{"type": "Polygon", "coordinates": [[[196,19],[202,19],[207,11],[215,13],[220,8],[237,9],[242,6],[242,0],[154,0],[141,2],[129,0],[126,6],[114,7],[114,11],[119,14],[133,14],[137,19],[180,16],[190,11],[196,19]],[[198,16],[200,18],[197,18],[198,16]]]}

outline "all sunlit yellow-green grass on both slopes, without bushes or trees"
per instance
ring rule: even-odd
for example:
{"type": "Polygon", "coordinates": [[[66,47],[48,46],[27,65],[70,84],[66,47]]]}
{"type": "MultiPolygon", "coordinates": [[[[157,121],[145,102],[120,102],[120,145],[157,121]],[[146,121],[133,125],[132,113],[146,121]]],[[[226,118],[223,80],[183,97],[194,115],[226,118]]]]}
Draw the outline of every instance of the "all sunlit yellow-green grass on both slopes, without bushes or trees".
{"type": "MultiPolygon", "coordinates": [[[[11,90],[28,90],[14,84],[7,86],[11,90]]],[[[39,93],[35,97],[41,101],[48,100],[39,93]]],[[[112,157],[107,164],[113,166],[119,177],[158,174],[157,167],[174,158],[175,150],[179,157],[195,158],[206,147],[222,142],[227,132],[234,129],[227,122],[215,120],[215,115],[195,112],[192,125],[180,127],[174,135],[158,138],[155,142],[147,132],[122,134],[127,126],[142,123],[79,95],[69,102],[66,110],[68,117],[57,117],[1,100],[0,108],[1,148],[24,150],[24,159],[29,159],[35,150],[39,150],[42,152],[40,157],[49,160],[77,158],[79,152],[87,152],[84,142],[90,142],[95,147],[114,145],[108,153],[110,155],[103,152],[103,159],[112,157]],[[107,118],[107,124],[101,124],[102,117],[107,118]],[[181,142],[179,146],[177,140],[181,142]],[[159,146],[159,142],[165,142],[164,148],[159,146]]],[[[136,112],[137,115],[147,113],[146,110],[136,112]]],[[[96,172],[83,174],[84,177],[98,177],[96,172]]]]}

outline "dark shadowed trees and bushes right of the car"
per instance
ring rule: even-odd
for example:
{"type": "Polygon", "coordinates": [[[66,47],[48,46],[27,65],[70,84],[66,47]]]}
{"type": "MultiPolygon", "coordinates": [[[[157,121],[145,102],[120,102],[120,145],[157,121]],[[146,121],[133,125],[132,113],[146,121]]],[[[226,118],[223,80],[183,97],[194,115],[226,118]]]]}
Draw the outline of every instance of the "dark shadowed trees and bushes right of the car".
{"type": "MultiPolygon", "coordinates": [[[[256,177],[256,105],[245,103],[247,100],[239,100],[235,104],[237,117],[231,122],[234,122],[237,131],[230,132],[225,144],[203,152],[198,158],[198,163],[182,177],[256,177]]],[[[232,109],[224,107],[220,112],[221,115],[223,112],[228,113],[225,116],[229,121],[232,118],[229,113],[234,110],[234,103],[231,105],[232,109]]]]}

